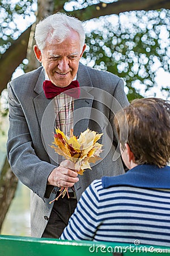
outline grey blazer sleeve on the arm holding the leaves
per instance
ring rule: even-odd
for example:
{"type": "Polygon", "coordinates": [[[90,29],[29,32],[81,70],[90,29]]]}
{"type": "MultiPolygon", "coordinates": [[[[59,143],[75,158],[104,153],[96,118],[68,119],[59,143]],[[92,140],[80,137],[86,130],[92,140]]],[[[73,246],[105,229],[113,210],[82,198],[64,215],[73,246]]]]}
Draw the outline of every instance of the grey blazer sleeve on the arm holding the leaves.
{"type": "Polygon", "coordinates": [[[42,199],[49,197],[53,186],[46,184],[50,172],[56,166],[42,161],[35,154],[22,106],[10,83],[7,88],[10,122],[7,140],[8,162],[14,174],[24,185],[32,189],[42,199]]]}

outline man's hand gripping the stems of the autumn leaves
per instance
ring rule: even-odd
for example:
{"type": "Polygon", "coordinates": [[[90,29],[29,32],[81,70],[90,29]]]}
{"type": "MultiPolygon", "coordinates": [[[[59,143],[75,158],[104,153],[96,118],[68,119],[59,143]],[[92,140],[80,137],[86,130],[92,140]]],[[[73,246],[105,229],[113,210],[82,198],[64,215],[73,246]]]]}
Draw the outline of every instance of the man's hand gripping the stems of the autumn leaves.
{"type": "Polygon", "coordinates": [[[79,180],[75,170],[75,164],[70,160],[64,160],[61,164],[54,168],[48,177],[48,184],[57,187],[73,187],[79,180]]]}

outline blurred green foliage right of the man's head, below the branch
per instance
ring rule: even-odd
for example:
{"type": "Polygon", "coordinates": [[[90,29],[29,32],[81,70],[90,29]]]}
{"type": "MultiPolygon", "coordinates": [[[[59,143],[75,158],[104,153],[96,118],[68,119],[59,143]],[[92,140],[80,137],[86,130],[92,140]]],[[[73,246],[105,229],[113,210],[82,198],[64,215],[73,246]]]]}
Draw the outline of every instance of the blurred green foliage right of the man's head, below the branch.
{"type": "MultiPolygon", "coordinates": [[[[156,85],[160,67],[169,71],[169,10],[132,11],[95,23],[97,28],[87,32],[84,62],[123,77],[129,100],[142,97],[156,85]]],[[[88,22],[86,27],[88,31],[88,22]]],[[[161,88],[167,97],[169,87],[170,82],[161,88]]]]}

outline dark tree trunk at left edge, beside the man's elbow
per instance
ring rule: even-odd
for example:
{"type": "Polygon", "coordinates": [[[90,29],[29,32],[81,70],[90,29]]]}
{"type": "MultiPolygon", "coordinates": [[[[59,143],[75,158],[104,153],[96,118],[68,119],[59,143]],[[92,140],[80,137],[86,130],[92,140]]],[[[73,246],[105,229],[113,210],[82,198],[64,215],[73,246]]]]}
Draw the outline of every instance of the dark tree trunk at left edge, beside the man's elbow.
{"type": "Polygon", "coordinates": [[[16,187],[18,184],[17,177],[11,171],[7,158],[3,164],[0,176],[0,232],[6,213],[14,198],[16,187]]]}

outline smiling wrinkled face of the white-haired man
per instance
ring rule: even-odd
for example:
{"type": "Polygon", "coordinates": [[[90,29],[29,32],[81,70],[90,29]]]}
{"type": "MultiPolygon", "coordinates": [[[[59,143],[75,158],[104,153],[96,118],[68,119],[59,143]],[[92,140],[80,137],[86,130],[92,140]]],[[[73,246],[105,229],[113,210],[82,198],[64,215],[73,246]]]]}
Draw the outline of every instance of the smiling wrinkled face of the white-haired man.
{"type": "Polygon", "coordinates": [[[66,87],[76,76],[79,60],[85,48],[86,45],[80,51],[79,35],[76,31],[71,31],[62,43],[53,39],[46,43],[42,51],[37,46],[35,46],[34,51],[50,81],[59,87],[66,87]]]}

